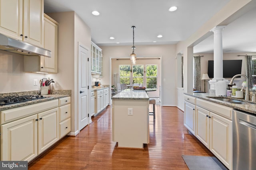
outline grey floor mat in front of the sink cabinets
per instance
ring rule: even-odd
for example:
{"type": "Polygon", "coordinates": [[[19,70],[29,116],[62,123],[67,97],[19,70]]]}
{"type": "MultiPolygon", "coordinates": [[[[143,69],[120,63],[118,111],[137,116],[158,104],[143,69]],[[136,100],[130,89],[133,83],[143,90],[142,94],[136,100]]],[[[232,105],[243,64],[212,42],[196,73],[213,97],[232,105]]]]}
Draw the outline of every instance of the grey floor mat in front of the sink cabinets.
{"type": "Polygon", "coordinates": [[[190,170],[228,170],[214,156],[182,155],[182,158],[190,170]]]}

